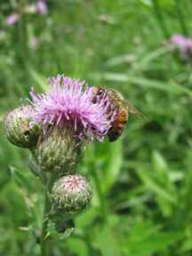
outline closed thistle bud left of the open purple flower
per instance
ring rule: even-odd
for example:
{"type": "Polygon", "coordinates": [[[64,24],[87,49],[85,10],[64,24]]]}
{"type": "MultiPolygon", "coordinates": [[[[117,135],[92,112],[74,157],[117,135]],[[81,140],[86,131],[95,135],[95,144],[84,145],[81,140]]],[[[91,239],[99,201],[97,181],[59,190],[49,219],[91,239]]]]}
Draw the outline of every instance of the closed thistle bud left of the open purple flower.
{"type": "Polygon", "coordinates": [[[4,118],[4,128],[7,139],[15,146],[31,148],[36,144],[38,128],[37,125],[29,127],[29,106],[16,108],[4,118]]]}

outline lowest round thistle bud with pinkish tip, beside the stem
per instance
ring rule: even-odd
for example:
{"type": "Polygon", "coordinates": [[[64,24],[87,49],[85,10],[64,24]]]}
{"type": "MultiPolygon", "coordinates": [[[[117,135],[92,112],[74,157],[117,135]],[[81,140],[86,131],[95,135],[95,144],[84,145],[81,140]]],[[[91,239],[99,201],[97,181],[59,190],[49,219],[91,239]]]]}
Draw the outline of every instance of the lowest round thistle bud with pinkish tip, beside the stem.
{"type": "Polygon", "coordinates": [[[56,212],[75,213],[90,203],[92,187],[81,175],[67,175],[54,183],[50,197],[56,212]]]}

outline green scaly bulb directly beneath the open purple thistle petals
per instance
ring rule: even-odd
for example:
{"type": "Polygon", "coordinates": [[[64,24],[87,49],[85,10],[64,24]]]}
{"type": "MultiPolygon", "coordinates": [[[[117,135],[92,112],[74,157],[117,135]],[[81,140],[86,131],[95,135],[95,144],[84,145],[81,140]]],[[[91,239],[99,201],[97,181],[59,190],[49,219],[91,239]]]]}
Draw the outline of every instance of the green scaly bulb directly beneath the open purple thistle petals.
{"type": "Polygon", "coordinates": [[[71,174],[81,158],[82,142],[69,127],[53,127],[37,143],[36,162],[43,172],[71,174]]]}

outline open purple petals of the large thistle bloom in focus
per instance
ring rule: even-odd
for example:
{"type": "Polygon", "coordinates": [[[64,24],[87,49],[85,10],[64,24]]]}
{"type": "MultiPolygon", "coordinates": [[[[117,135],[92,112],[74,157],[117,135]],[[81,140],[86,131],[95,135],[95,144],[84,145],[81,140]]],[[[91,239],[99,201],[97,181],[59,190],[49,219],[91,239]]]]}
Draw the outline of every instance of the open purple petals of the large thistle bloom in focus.
{"type": "Polygon", "coordinates": [[[66,76],[52,77],[50,84],[50,92],[30,92],[34,108],[31,125],[43,124],[46,131],[50,124],[61,128],[69,124],[79,138],[102,140],[116,116],[115,111],[108,113],[107,95],[92,102],[92,87],[66,76]]]}

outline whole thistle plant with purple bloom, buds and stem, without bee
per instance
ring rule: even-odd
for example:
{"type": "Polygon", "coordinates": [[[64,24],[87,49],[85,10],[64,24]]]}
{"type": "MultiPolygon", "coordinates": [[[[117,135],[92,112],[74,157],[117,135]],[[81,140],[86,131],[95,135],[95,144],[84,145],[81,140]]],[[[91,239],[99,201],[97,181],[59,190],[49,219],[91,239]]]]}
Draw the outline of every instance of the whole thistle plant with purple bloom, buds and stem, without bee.
{"type": "Polygon", "coordinates": [[[4,118],[7,139],[30,150],[44,184],[42,256],[49,252],[49,219],[61,218],[67,224],[90,204],[92,186],[77,173],[78,163],[84,145],[94,139],[102,141],[116,117],[108,111],[108,95],[95,97],[93,87],[84,82],[58,75],[49,84],[48,92],[36,94],[32,89],[28,105],[13,109],[4,118]]]}

